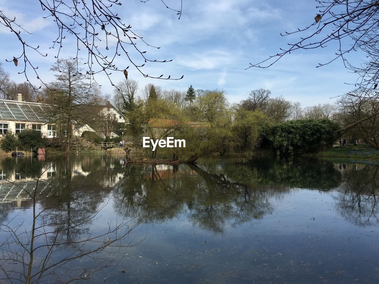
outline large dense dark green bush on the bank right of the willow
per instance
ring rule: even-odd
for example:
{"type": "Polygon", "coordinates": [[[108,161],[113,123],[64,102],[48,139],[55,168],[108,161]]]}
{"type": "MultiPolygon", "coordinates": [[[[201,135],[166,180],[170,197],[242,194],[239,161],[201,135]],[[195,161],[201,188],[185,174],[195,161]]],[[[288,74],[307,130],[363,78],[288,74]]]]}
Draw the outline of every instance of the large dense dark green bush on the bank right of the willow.
{"type": "Polygon", "coordinates": [[[299,119],[273,127],[271,143],[279,155],[291,156],[332,147],[338,124],[329,119],[299,119]]]}

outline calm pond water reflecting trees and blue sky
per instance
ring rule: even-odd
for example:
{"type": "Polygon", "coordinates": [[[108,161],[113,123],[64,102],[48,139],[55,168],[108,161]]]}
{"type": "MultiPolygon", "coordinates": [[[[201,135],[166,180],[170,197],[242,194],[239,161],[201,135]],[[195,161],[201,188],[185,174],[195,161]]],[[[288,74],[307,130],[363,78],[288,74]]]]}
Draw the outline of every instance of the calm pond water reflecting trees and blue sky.
{"type": "Polygon", "coordinates": [[[95,240],[104,243],[130,231],[95,257],[47,269],[44,283],[379,282],[375,162],[256,159],[245,165],[207,160],[144,166],[125,165],[121,158],[0,161],[0,240],[6,243],[0,263],[8,271],[0,272],[0,282],[24,279],[22,266],[30,256],[18,247],[28,248],[34,204],[41,237],[33,272],[92,248],[84,243],[89,236],[101,235],[95,240]],[[112,231],[116,222],[126,226],[112,231]],[[10,238],[4,225],[19,228],[16,235],[25,240],[10,238]],[[54,241],[58,244],[44,246],[54,241]],[[105,264],[109,267],[90,274],[105,264]]]}

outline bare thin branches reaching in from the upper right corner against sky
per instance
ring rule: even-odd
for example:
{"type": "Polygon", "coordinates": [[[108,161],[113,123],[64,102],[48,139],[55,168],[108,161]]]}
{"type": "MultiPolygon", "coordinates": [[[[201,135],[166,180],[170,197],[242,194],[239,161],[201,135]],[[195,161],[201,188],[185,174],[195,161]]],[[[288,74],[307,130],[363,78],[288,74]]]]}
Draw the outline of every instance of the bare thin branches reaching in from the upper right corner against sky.
{"type": "MultiPolygon", "coordinates": [[[[283,56],[297,50],[312,50],[326,47],[331,42],[337,43],[337,48],[324,66],[340,58],[344,66],[359,75],[355,85],[357,89],[376,89],[379,76],[379,5],[377,0],[323,0],[316,1],[315,19],[310,19],[310,25],[298,28],[293,32],[285,32],[282,36],[293,38],[299,34],[299,40],[288,44],[288,48],[280,48],[280,52],[249,67],[267,68],[275,64],[283,56]],[[361,50],[365,57],[363,64],[355,65],[350,61],[350,51],[361,50]]],[[[377,93],[361,92],[361,95],[377,93]]]]}

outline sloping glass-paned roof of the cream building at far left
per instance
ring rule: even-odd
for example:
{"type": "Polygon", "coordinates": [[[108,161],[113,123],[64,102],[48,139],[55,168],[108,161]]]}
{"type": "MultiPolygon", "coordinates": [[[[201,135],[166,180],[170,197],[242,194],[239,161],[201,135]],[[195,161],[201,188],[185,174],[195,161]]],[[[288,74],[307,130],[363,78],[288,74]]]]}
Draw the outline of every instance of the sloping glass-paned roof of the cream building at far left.
{"type": "Polygon", "coordinates": [[[51,111],[49,105],[0,100],[0,119],[44,122],[51,111]]]}

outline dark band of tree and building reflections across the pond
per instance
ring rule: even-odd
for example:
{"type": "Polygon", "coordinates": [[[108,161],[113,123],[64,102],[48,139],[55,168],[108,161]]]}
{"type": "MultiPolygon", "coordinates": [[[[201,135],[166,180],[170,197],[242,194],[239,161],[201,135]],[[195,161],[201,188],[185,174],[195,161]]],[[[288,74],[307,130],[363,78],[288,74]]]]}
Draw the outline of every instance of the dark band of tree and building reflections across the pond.
{"type": "Polygon", "coordinates": [[[0,218],[13,208],[30,207],[30,197],[20,187],[33,188],[42,172],[39,200],[44,206],[58,203],[67,211],[80,208],[83,200],[88,210],[94,210],[111,194],[114,209],[125,217],[161,222],[188,210],[191,223],[222,233],[226,222],[239,224],[271,214],[275,203],[293,190],[315,189],[339,192],[337,207],[346,220],[377,223],[379,165],[344,167],[314,160],[292,166],[298,162],[261,159],[247,165],[221,161],[144,166],[122,164],[119,157],[111,156],[76,156],[58,163],[5,158],[0,161],[4,216],[0,218]]]}

